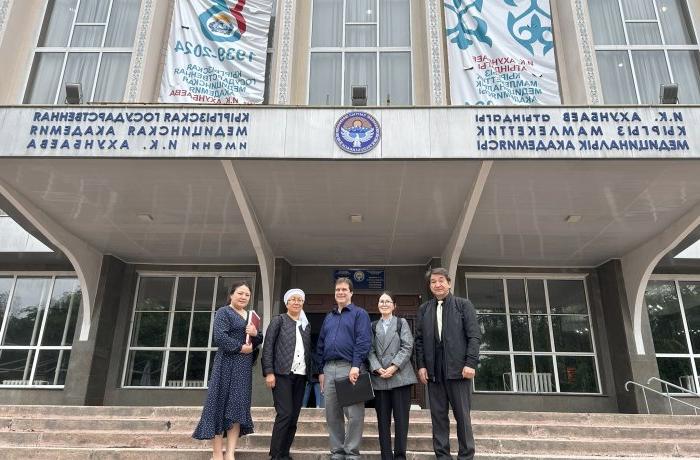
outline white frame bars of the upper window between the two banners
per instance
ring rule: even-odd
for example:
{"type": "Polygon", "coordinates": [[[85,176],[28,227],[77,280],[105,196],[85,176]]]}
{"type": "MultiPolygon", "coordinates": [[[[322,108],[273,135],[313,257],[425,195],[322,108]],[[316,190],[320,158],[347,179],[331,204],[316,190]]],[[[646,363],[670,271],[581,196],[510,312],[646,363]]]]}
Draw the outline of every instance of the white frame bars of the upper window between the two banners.
{"type": "MultiPolygon", "coordinates": [[[[346,54],[350,53],[365,53],[365,54],[374,54],[375,55],[375,66],[376,66],[376,88],[377,88],[377,101],[376,104],[370,103],[370,101],[367,101],[367,106],[369,107],[403,107],[403,106],[394,106],[394,105],[383,105],[381,103],[381,63],[380,63],[380,56],[382,53],[408,53],[409,56],[409,66],[411,68],[411,103],[409,106],[415,105],[415,100],[416,100],[416,85],[414,81],[414,75],[415,75],[415,69],[414,69],[414,56],[413,56],[413,24],[411,23],[411,19],[413,18],[413,7],[411,5],[411,0],[406,0],[406,3],[408,4],[408,23],[409,23],[409,44],[407,46],[381,46],[380,45],[380,7],[379,7],[379,2],[382,0],[376,0],[375,5],[377,6],[377,16],[376,20],[374,22],[349,22],[347,21],[347,2],[348,0],[338,0],[343,3],[343,22],[342,22],[342,33],[341,33],[341,46],[319,46],[319,47],[314,47],[313,46],[313,25],[314,25],[314,8],[316,5],[315,1],[311,2],[311,8],[310,8],[310,17],[309,17],[309,36],[308,36],[308,43],[309,43],[309,59],[307,63],[307,69],[306,69],[306,105],[309,105],[309,100],[311,99],[311,58],[313,54],[340,54],[340,104],[339,106],[342,107],[350,107],[351,102],[346,102],[345,101],[345,69],[346,69],[346,54]],[[359,46],[345,46],[346,42],[346,31],[347,31],[347,26],[352,26],[352,25],[374,25],[376,30],[375,30],[375,35],[376,35],[376,46],[364,46],[364,47],[359,47],[359,46]]],[[[322,105],[322,107],[328,107],[328,105],[322,105]]]]}

